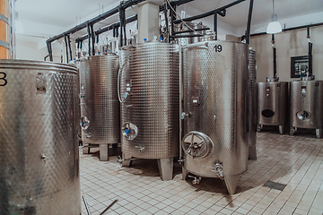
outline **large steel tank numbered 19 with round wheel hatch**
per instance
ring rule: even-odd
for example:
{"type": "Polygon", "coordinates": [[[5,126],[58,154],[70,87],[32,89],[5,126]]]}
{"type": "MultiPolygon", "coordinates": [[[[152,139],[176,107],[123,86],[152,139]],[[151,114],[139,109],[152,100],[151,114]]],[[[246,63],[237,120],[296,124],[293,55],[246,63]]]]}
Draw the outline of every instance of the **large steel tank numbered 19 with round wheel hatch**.
{"type": "Polygon", "coordinates": [[[184,47],[183,177],[224,178],[230,194],[248,164],[248,57],[245,43],[184,47]]]}

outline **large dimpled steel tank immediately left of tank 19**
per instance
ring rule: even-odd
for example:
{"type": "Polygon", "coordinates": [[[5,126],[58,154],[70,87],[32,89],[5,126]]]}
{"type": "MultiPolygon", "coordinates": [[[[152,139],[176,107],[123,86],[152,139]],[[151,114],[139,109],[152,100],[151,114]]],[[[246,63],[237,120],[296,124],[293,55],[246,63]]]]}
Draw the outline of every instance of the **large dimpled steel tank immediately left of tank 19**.
{"type": "Polygon", "coordinates": [[[169,180],[179,156],[179,46],[147,42],[123,47],[120,57],[123,165],[158,159],[169,180]]]}

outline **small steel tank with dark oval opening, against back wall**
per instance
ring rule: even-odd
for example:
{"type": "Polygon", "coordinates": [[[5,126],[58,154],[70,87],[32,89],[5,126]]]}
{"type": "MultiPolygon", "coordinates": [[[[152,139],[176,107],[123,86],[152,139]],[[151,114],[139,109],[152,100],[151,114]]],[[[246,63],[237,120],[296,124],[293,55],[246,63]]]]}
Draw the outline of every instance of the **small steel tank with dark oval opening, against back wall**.
{"type": "Polygon", "coordinates": [[[258,132],[263,125],[277,125],[279,133],[284,133],[287,106],[288,82],[279,82],[277,77],[258,82],[258,132]]]}

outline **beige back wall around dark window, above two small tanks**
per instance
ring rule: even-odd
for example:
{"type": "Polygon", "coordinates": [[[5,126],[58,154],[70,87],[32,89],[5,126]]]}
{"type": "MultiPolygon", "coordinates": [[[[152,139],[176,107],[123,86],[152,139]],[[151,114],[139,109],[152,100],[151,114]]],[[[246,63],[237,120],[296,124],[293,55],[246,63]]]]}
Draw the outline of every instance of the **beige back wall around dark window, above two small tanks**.
{"type": "MultiPolygon", "coordinates": [[[[291,78],[291,57],[308,55],[306,36],[306,29],[275,34],[277,76],[281,81],[298,80],[291,78]]],[[[323,26],[310,28],[310,37],[313,43],[313,74],[317,80],[323,80],[323,26]]],[[[257,81],[265,82],[266,77],[272,77],[274,73],[271,34],[252,37],[250,46],[257,52],[257,81]]]]}

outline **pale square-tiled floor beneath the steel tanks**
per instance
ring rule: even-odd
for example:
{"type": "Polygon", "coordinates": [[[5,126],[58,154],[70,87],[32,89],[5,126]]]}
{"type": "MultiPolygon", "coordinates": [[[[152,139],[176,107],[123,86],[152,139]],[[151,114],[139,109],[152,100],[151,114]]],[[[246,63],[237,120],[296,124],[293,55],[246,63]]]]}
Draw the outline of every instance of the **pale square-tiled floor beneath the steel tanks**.
{"type": "Polygon", "coordinates": [[[92,215],[116,199],[106,214],[323,214],[323,140],[314,136],[258,133],[258,160],[249,161],[231,196],[220,179],[181,180],[178,164],[174,179],[162,181],[155,160],[121,168],[117,157],[100,162],[98,152],[80,154],[81,189],[92,215]],[[262,186],[267,180],[287,186],[262,186]]]}

